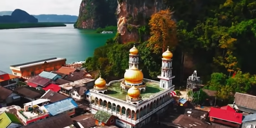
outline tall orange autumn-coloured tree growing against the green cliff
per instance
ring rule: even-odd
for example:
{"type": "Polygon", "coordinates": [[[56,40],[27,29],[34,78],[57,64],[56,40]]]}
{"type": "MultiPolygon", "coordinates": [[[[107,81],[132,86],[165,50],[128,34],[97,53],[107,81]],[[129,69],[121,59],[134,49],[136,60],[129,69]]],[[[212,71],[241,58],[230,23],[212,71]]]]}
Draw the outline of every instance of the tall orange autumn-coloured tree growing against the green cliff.
{"type": "Polygon", "coordinates": [[[153,14],[148,25],[150,27],[148,46],[155,46],[152,47],[154,53],[159,53],[159,48],[165,52],[167,46],[174,48],[177,45],[176,23],[169,9],[153,14]]]}

